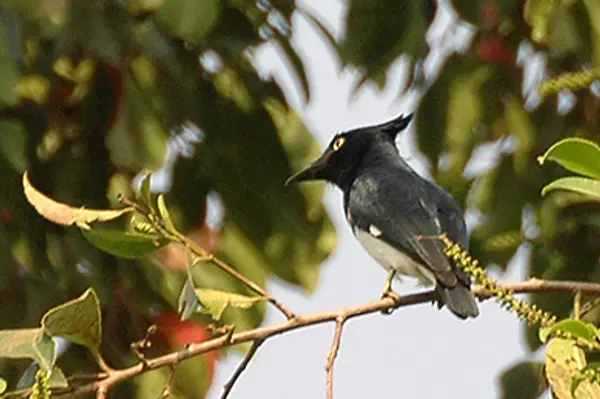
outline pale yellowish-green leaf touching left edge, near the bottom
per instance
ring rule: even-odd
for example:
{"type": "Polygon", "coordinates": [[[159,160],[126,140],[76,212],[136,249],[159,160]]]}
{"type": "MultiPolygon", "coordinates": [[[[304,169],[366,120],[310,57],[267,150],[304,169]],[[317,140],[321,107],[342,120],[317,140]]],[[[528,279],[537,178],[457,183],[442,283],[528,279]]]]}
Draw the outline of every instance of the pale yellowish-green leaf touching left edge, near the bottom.
{"type": "Polygon", "coordinates": [[[55,356],[54,341],[41,328],[0,331],[0,357],[33,359],[50,370],[55,356]]]}

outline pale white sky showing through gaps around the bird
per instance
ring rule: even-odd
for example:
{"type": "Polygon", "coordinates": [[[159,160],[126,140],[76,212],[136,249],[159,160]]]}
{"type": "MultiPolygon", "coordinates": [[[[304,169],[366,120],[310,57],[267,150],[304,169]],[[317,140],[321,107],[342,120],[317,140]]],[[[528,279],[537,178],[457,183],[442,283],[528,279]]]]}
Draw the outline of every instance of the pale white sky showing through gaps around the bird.
{"type": "MultiPolygon", "coordinates": [[[[339,35],[343,6],[340,0],[298,1],[339,35]]],[[[400,68],[392,73],[388,90],[363,90],[353,99],[350,91],[355,74],[338,74],[338,62],[311,26],[295,18],[294,43],[307,64],[313,98],[300,108],[311,132],[324,147],[340,130],[381,122],[414,105],[398,101],[402,82],[400,68]]],[[[265,70],[287,82],[285,67],[266,52],[261,59],[265,70]]],[[[297,96],[288,91],[293,104],[297,96]]],[[[402,154],[415,169],[425,172],[422,157],[415,153],[410,135],[399,140],[402,154]]],[[[355,241],[341,210],[341,194],[328,189],[325,203],[339,234],[339,246],[323,265],[321,283],[308,297],[293,287],[273,282],[270,292],[298,314],[337,309],[379,297],[386,273],[355,241]]],[[[514,262],[514,263],[518,263],[514,262]]],[[[502,276],[505,281],[523,278],[518,264],[502,276]]],[[[395,284],[400,293],[417,290],[407,279],[395,284]]],[[[266,324],[281,322],[269,310],[266,324]]],[[[306,399],[325,397],[325,362],[333,338],[333,324],[301,329],[268,340],[258,351],[231,393],[231,398],[306,399]]],[[[499,396],[502,370],[526,356],[522,326],[516,317],[492,301],[481,304],[481,315],[462,322],[447,310],[420,305],[397,310],[391,316],[374,314],[346,324],[335,366],[336,398],[464,398],[499,396]]],[[[240,361],[229,356],[216,370],[210,399],[220,397],[222,387],[240,361]]]]}

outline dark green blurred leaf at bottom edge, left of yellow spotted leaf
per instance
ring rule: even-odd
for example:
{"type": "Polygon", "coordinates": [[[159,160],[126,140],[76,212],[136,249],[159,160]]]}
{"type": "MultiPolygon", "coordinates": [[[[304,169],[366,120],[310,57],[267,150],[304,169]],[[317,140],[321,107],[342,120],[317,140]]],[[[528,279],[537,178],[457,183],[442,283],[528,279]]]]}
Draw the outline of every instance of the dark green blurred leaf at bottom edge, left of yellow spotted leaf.
{"type": "Polygon", "coordinates": [[[500,377],[502,399],[537,399],[546,389],[542,363],[519,362],[500,377]]]}

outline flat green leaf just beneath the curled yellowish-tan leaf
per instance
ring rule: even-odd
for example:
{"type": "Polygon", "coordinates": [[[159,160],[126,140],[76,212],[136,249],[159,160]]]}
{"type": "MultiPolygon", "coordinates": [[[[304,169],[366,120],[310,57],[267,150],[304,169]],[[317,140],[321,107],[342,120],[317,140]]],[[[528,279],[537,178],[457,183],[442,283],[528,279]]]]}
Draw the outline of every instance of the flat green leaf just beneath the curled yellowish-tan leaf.
{"type": "Polygon", "coordinates": [[[146,234],[110,229],[82,229],[81,234],[96,248],[128,259],[151,254],[168,243],[146,234]]]}

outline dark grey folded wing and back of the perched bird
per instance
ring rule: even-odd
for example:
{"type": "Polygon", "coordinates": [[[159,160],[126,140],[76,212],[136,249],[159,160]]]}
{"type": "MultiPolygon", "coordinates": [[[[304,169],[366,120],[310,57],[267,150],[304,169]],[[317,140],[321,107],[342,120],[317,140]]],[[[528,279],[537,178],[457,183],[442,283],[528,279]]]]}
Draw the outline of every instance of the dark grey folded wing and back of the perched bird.
{"type": "Polygon", "coordinates": [[[462,216],[451,212],[441,216],[436,197],[439,193],[416,175],[408,181],[403,179],[402,185],[398,183],[395,176],[357,179],[348,198],[353,223],[365,231],[373,230],[373,225],[381,232],[377,238],[422,263],[442,285],[454,287],[458,279],[464,281],[445,255],[444,243],[436,238],[447,233],[453,240],[465,241],[462,236],[453,237],[466,237],[460,225],[464,223],[462,216]]]}

